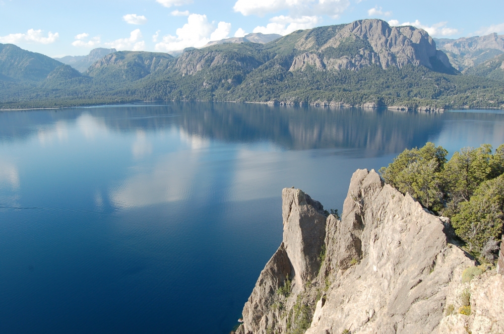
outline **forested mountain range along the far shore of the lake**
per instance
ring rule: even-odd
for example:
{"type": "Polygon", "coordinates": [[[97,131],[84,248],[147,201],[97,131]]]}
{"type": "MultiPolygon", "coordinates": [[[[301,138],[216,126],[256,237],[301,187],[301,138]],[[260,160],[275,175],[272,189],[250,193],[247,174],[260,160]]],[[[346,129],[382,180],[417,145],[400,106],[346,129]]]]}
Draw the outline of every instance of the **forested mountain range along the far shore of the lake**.
{"type": "MultiPolygon", "coordinates": [[[[61,58],[74,61],[77,68],[78,62],[84,64],[100,52],[112,52],[86,71],[12,44],[0,44],[0,107],[144,100],[427,110],[504,105],[499,79],[502,69],[497,58],[489,63],[481,61],[472,72],[465,68],[464,74],[450,61],[456,50],[462,54],[470,48],[489,49],[493,44],[486,40],[478,42],[480,49],[471,46],[474,43],[445,39],[438,40],[441,46],[436,47],[435,40],[422,29],[391,27],[374,19],[277,37],[250,34],[200,49],[188,48],[177,57],[161,52],[98,49],[85,58],[61,58]],[[268,39],[273,40],[264,43],[268,39]]],[[[498,47],[498,38],[494,47],[498,47]]]]}

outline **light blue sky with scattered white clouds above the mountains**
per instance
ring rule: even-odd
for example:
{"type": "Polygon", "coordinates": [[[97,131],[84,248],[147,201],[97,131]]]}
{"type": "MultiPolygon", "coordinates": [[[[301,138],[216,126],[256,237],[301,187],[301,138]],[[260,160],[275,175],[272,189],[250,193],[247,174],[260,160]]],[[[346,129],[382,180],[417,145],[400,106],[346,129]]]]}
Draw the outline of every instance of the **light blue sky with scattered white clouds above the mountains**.
{"type": "Polygon", "coordinates": [[[504,34],[502,13],[504,0],[0,0],[0,43],[51,57],[96,47],[170,52],[369,18],[460,38],[504,34]]]}

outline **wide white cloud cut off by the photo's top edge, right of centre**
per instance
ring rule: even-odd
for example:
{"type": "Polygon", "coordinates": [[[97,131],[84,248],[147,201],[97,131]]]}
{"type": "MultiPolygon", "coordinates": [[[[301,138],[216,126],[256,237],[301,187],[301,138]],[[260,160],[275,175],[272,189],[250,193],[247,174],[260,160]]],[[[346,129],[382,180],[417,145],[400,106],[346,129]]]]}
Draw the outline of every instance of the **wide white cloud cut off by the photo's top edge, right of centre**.
{"type": "Polygon", "coordinates": [[[349,0],[237,0],[233,9],[245,16],[264,16],[287,10],[293,17],[329,15],[336,18],[349,5],[349,0]]]}

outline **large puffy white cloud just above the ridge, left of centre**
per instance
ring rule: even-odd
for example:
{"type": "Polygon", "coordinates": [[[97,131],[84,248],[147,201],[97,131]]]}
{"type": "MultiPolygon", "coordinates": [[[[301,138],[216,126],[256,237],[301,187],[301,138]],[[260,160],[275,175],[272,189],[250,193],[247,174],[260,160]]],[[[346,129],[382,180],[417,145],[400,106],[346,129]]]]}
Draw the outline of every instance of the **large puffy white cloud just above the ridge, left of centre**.
{"type": "Polygon", "coordinates": [[[176,37],[166,35],[163,40],[156,44],[158,51],[182,50],[186,47],[202,47],[212,38],[227,38],[231,30],[231,24],[219,22],[217,28],[208,22],[206,15],[191,14],[187,17],[187,23],[176,30],[176,37]]]}

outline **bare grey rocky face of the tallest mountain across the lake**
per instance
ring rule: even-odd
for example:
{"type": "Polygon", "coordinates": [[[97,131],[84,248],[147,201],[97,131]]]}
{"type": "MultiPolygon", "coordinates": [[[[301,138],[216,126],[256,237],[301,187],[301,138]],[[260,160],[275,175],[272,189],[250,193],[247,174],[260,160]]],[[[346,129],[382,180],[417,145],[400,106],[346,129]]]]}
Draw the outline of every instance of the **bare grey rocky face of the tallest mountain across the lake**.
{"type": "MultiPolygon", "coordinates": [[[[331,27],[326,29],[329,31],[331,27]]],[[[383,69],[390,66],[402,68],[407,64],[434,70],[435,60],[442,63],[446,71],[452,70],[448,56],[436,50],[436,43],[426,31],[412,26],[391,27],[383,20],[354,21],[335,32],[334,37],[322,45],[319,45],[317,36],[308,33],[296,43],[296,48],[307,52],[294,58],[290,71],[304,70],[306,64],[319,71],[358,71],[370,65],[379,65],[383,69]],[[350,51],[356,45],[358,50],[350,51]]]]}

